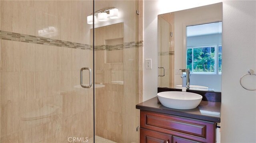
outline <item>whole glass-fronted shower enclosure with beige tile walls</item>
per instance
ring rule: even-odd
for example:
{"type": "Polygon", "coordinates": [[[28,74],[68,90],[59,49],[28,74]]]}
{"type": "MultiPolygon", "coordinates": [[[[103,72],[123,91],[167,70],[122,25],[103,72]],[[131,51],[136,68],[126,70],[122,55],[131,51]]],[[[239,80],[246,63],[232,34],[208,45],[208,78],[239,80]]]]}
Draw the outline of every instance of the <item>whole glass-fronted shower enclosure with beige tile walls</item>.
{"type": "Polygon", "coordinates": [[[0,142],[138,143],[140,4],[1,0],[0,142]]]}

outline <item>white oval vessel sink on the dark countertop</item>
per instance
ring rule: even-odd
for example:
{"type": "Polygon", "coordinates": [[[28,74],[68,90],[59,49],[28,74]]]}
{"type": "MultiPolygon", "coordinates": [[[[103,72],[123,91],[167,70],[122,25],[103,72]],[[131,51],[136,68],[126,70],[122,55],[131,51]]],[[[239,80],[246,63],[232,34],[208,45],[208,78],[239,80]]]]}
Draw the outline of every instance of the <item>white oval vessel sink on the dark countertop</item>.
{"type": "Polygon", "coordinates": [[[202,100],[199,94],[179,91],[159,92],[157,97],[163,106],[174,109],[194,109],[202,100]]]}

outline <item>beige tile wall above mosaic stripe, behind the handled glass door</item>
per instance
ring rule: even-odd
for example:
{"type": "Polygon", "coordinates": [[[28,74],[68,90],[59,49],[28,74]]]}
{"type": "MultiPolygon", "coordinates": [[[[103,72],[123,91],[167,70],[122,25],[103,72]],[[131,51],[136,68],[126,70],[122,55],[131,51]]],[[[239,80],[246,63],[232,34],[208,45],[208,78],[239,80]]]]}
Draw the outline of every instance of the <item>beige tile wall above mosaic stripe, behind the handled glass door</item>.
{"type": "Polygon", "coordinates": [[[38,36],[48,26],[57,29],[54,39],[90,44],[86,16],[92,13],[92,0],[1,1],[1,30],[38,36]]]}

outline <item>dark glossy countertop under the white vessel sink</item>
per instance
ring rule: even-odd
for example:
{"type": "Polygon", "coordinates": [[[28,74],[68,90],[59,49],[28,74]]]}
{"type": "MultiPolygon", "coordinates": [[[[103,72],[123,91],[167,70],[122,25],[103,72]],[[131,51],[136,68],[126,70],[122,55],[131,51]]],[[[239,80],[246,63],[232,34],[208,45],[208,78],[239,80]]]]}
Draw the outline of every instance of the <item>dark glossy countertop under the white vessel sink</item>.
{"type": "Polygon", "coordinates": [[[192,119],[200,119],[204,121],[212,121],[220,123],[221,102],[201,101],[197,108],[180,110],[163,106],[158,102],[158,98],[154,97],[136,105],[136,109],[158,112],[162,114],[170,114],[192,119]]]}

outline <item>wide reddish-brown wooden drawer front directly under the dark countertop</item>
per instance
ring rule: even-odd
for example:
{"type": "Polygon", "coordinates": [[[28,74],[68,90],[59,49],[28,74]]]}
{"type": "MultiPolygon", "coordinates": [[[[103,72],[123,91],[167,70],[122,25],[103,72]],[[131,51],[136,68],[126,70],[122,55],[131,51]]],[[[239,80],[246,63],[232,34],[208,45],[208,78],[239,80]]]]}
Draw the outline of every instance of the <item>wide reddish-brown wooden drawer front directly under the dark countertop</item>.
{"type": "Polygon", "coordinates": [[[216,123],[140,111],[140,127],[200,142],[215,142],[216,123]]]}

